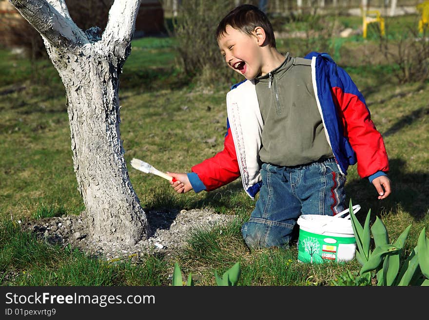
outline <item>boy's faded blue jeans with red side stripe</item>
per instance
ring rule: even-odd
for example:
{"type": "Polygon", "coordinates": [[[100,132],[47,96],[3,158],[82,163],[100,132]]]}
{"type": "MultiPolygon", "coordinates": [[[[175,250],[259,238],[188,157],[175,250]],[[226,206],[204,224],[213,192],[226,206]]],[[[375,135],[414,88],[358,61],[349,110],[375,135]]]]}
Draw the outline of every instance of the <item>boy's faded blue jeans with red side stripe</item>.
{"type": "Polygon", "coordinates": [[[346,177],[334,158],[308,165],[279,167],[264,163],[254,211],[241,227],[250,248],[285,247],[299,229],[301,214],[335,215],[345,208],[346,177]]]}

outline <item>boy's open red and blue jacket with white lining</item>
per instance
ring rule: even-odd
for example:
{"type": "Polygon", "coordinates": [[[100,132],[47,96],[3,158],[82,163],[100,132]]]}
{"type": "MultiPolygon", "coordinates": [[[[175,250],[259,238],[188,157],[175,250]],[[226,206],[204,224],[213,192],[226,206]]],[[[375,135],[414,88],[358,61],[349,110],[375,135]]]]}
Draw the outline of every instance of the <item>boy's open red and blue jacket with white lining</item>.
{"type": "MultiPolygon", "coordinates": [[[[361,178],[368,177],[372,182],[386,175],[389,161],[383,138],[350,75],[327,54],[312,52],[305,58],[312,59],[317,106],[340,171],[347,174],[348,167],[357,162],[361,178]]],[[[224,186],[241,175],[245,191],[254,198],[261,185],[257,152],[260,148],[258,136],[260,138],[263,128],[254,83],[251,80],[240,82],[228,95],[224,149],[192,167],[188,177],[195,192],[199,192],[224,186]],[[251,123],[251,128],[246,129],[244,123],[251,123]]]]}

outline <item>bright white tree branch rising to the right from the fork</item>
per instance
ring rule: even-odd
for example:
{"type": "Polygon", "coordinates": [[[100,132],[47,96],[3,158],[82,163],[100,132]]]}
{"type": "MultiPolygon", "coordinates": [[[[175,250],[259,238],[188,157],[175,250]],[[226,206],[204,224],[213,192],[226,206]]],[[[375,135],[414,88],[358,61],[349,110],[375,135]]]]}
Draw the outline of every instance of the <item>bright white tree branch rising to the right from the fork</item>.
{"type": "Polygon", "coordinates": [[[109,20],[102,41],[109,51],[123,57],[133,38],[141,0],[115,0],[109,11],[109,20]]]}

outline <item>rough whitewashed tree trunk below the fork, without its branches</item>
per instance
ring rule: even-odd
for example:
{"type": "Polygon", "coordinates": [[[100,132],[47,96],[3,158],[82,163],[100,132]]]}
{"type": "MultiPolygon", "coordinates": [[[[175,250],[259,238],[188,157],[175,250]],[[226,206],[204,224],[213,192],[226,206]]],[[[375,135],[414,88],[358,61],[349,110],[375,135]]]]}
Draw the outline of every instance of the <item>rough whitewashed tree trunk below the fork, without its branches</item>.
{"type": "Polygon", "coordinates": [[[117,65],[102,48],[94,49],[66,53],[60,61],[70,62],[56,65],[67,93],[78,186],[95,240],[136,243],[147,222],[120,142],[117,65]]]}

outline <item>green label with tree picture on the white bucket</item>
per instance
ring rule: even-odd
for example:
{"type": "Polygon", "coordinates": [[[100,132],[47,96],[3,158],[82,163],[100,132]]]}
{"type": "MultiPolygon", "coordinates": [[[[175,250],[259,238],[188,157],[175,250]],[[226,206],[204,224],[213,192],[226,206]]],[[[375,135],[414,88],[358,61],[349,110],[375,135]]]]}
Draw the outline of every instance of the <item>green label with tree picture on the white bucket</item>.
{"type": "Polygon", "coordinates": [[[356,240],[352,237],[327,236],[299,230],[298,260],[321,264],[326,261],[349,261],[354,258],[356,240]]]}

